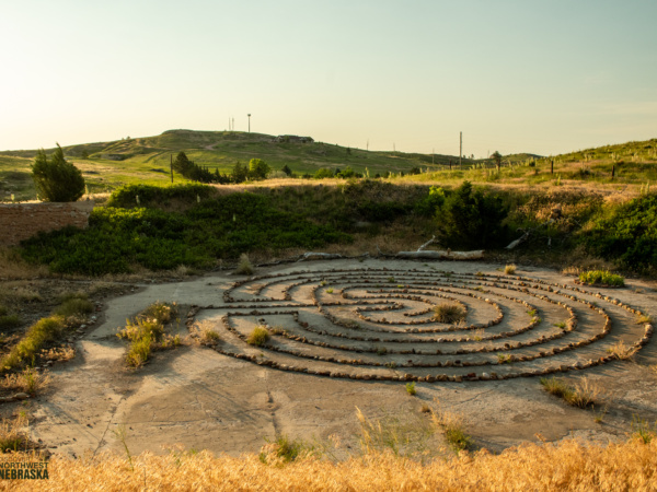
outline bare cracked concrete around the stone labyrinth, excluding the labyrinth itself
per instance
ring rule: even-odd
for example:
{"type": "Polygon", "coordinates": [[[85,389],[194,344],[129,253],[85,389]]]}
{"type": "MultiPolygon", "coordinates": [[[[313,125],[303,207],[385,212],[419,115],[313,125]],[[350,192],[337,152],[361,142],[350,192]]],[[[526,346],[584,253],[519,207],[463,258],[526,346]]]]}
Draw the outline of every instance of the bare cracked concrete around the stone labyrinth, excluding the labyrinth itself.
{"type": "MultiPolygon", "coordinates": [[[[374,260],[366,261],[374,262],[374,260]]],[[[390,265],[388,262],[387,265],[390,265]]],[[[341,267],[353,265],[343,262],[341,267]]],[[[397,262],[396,267],[408,262],[397,262]]],[[[304,269],[335,268],[336,262],[303,263],[304,269]]],[[[362,267],[358,263],[358,267],[362,267]]],[[[440,263],[440,268],[494,270],[489,263],[440,263]]],[[[293,270],[278,267],[264,272],[293,270]]],[[[533,272],[538,272],[534,270],[533,272]]],[[[263,272],[263,271],[261,271],[263,272]]],[[[545,276],[558,277],[544,271],[545,276]]],[[[356,408],[370,418],[417,415],[423,403],[459,412],[477,445],[493,450],[526,441],[626,438],[633,415],[657,419],[655,340],[637,363],[612,362],[568,377],[590,376],[606,389],[602,423],[591,410],[566,406],[541,389],[538,378],[476,383],[419,383],[417,396],[401,382],[364,382],[276,371],[198,345],[157,352],[137,371],[126,370],[126,344],[114,335],[127,317],[155,301],[220,306],[221,293],[235,279],[214,273],[187,282],[148,285],[112,300],[104,323],[78,341],[77,356],[53,371],[53,387],[34,405],[34,440],[71,456],[122,452],[115,432],[125,425],[134,454],[187,448],[239,455],[257,452],[265,438],[285,433],[304,440],[337,435],[357,446],[356,408]]],[[[645,284],[641,285],[652,292],[645,284]]],[[[619,296],[631,295],[630,290],[619,296]]],[[[615,295],[616,293],[614,293],[615,295]]],[[[649,295],[644,307],[655,308],[649,295]]],[[[414,417],[414,418],[415,418],[414,417]]]]}

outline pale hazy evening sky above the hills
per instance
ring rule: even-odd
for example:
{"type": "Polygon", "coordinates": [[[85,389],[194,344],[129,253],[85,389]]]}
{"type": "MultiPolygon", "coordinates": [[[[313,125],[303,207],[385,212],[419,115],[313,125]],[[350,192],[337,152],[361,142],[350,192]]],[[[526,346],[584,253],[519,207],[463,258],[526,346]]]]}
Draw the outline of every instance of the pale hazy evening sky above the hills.
{"type": "Polygon", "coordinates": [[[555,154],[657,137],[657,0],[0,0],[0,150],[228,129],[555,154]]]}

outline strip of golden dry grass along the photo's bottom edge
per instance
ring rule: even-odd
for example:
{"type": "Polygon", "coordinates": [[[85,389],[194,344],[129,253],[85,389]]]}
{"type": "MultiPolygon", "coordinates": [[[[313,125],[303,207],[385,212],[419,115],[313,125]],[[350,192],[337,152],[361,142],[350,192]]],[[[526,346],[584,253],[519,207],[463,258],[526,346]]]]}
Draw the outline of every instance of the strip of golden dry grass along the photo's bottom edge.
{"type": "MultiPolygon", "coordinates": [[[[34,456],[34,455],[33,455],[34,456]]],[[[1,455],[1,461],[30,455],[1,455]]],[[[33,457],[34,459],[34,457],[33,457]]],[[[37,490],[441,490],[553,491],[656,490],[657,440],[608,446],[564,441],[530,444],[500,455],[461,454],[425,464],[393,453],[369,453],[332,462],[309,456],[276,466],[256,454],[240,458],[201,452],[131,458],[100,455],[80,459],[53,457],[48,481],[0,482],[0,489],[37,490]]]]}

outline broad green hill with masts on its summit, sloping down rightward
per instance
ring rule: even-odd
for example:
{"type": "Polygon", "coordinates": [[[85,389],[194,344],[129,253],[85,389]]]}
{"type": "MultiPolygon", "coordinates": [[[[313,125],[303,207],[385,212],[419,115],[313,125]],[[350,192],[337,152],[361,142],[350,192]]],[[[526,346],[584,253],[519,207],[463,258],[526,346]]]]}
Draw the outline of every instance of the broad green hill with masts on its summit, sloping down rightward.
{"type": "MultiPolygon", "coordinates": [[[[304,139],[306,140],[306,139],[304,139]]],[[[50,152],[48,149],[46,152],[50,152]]],[[[237,162],[247,164],[263,159],[274,169],[288,165],[296,174],[314,174],[321,167],[333,169],[350,166],[370,176],[378,173],[408,173],[413,167],[438,169],[456,162],[453,155],[407,154],[348,149],[336,144],[306,142],[299,138],[277,139],[263,133],[239,131],[168,130],[155,137],[94,142],[64,148],[67,159],[83,172],[90,192],[113,190],[125,184],[170,183],[171,156],[183,151],[187,157],[210,171],[226,173],[237,162]]],[[[34,199],[30,166],[36,150],[0,152],[0,200],[34,199]]],[[[464,163],[472,163],[463,160],[464,163]]],[[[176,183],[185,183],[176,175],[176,183]]]]}

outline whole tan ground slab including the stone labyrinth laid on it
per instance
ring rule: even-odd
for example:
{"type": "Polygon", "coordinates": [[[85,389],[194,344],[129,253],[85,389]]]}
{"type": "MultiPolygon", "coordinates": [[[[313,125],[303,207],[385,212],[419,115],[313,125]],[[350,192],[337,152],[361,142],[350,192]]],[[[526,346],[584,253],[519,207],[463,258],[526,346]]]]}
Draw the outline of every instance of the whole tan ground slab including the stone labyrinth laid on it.
{"type": "Polygon", "coordinates": [[[456,261],[308,261],[258,269],[254,278],[214,272],[125,288],[125,295],[103,300],[99,321],[74,340],[76,358],[53,367],[50,387],[32,400],[5,403],[2,411],[28,409],[31,437],[70,456],[123,453],[122,426],[132,454],[160,454],[182,444],[240,455],[285,434],[319,446],[339,442],[335,453],[345,455],[358,449],[358,410],[408,436],[408,446],[440,446],[442,437],[428,431],[423,406],[461,414],[476,446],[492,452],[570,436],[622,441],[633,420],[655,422],[654,339],[632,361],[577,366],[608,356],[619,341],[631,347],[642,339],[645,324],[636,324],[635,314],[610,298],[654,315],[655,285],[629,281],[618,290],[581,288],[553,270],[522,268],[505,276],[503,268],[456,261]],[[243,283],[234,286],[235,281],[243,283]],[[445,298],[466,307],[464,331],[430,321],[430,306],[445,298]],[[199,324],[210,328],[221,342],[215,348],[185,343],[157,352],[141,368],[126,368],[126,343],[115,335],[126,318],[155,301],[181,306],[173,329],[183,336],[189,329],[186,309],[198,306],[193,329],[199,324]],[[534,312],[528,314],[531,308],[522,301],[534,312]],[[566,305],[577,317],[568,332],[555,327],[568,318],[566,305]],[[596,339],[604,316],[611,329],[596,339]],[[472,328],[488,321],[494,323],[472,328]],[[528,323],[534,324],[509,335],[528,323]],[[306,331],[304,324],[315,331],[306,331]],[[275,333],[269,345],[244,342],[256,325],[275,333]],[[439,329],[430,331],[435,326],[439,329]],[[368,341],[372,338],[380,341],[368,341]],[[388,352],[368,352],[372,347],[388,352]],[[443,350],[429,355],[426,347],[443,350]],[[566,349],[552,353],[555,347],[566,349]],[[461,349],[466,350],[454,354],[461,349]],[[527,359],[496,363],[505,350],[527,359]],[[435,361],[442,366],[430,367],[435,361]],[[587,377],[602,394],[592,408],[570,407],[542,389],[542,372],[570,382],[587,377]],[[427,380],[437,378],[427,377],[433,374],[452,380],[427,380]],[[415,396],[407,393],[406,380],[416,382],[415,396]]]}

